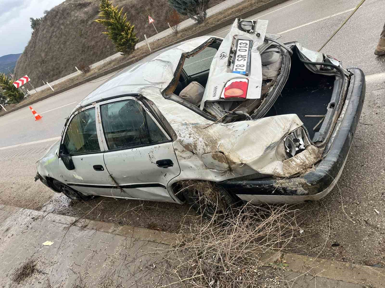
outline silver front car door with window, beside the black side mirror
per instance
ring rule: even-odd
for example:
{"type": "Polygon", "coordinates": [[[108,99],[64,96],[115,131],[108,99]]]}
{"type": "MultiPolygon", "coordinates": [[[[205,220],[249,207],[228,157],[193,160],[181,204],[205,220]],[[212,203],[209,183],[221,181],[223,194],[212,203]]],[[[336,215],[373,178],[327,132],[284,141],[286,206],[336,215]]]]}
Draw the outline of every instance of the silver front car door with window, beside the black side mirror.
{"type": "Polygon", "coordinates": [[[64,131],[61,149],[71,156],[75,169],[68,170],[59,158],[59,181],[85,195],[104,195],[111,191],[111,179],[104,167],[103,145],[92,105],[74,113],[64,131]]]}

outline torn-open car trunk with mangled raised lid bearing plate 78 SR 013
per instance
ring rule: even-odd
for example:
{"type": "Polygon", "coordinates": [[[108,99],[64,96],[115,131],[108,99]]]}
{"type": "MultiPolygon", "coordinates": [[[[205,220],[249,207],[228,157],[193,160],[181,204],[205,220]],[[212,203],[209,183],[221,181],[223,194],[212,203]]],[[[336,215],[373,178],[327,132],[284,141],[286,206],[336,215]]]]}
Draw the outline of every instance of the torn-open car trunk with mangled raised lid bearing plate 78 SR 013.
{"type": "Polygon", "coordinates": [[[223,40],[211,38],[186,55],[218,50],[210,69],[197,75],[200,84],[179,79],[179,86],[189,84],[174,93],[223,123],[296,114],[308,140],[320,146],[338,118],[350,73],[331,56],[298,42],[280,43],[280,35],[266,32],[267,23],[236,19],[223,40]]]}

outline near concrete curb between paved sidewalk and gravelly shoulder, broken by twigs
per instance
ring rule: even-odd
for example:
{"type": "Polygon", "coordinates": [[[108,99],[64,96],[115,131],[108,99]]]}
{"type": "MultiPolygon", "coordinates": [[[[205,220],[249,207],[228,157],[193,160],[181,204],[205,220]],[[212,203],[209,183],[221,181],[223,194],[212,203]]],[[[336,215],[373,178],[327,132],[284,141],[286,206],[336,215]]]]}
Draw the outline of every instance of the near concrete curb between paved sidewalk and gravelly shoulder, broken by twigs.
{"type": "MultiPolygon", "coordinates": [[[[172,245],[176,242],[175,233],[132,227],[129,225],[118,225],[115,223],[88,219],[79,220],[75,217],[57,215],[48,212],[13,207],[9,205],[0,205],[0,210],[5,210],[12,213],[23,211],[23,213],[27,213],[27,215],[31,217],[41,217],[46,220],[53,220],[61,224],[74,225],[84,229],[128,236],[138,240],[163,243],[167,245],[172,245]]],[[[255,253],[254,257],[266,263],[276,261],[286,263],[288,266],[285,267],[285,270],[293,271],[296,273],[310,276],[317,275],[317,277],[346,282],[346,286],[343,286],[346,288],[349,287],[349,283],[361,284],[363,287],[368,287],[366,286],[368,283],[370,283],[370,287],[372,288],[385,287],[385,269],[383,268],[362,266],[334,260],[326,260],[281,252],[255,253]]]]}

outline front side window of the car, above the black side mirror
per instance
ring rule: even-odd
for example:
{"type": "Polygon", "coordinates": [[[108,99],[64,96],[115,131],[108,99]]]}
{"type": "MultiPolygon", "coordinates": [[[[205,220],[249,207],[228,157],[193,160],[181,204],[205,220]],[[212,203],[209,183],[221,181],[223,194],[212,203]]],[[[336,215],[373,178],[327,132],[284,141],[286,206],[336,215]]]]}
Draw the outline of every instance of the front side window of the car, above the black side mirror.
{"type": "Polygon", "coordinates": [[[63,144],[69,154],[100,151],[94,107],[76,114],[71,119],[63,144]]]}

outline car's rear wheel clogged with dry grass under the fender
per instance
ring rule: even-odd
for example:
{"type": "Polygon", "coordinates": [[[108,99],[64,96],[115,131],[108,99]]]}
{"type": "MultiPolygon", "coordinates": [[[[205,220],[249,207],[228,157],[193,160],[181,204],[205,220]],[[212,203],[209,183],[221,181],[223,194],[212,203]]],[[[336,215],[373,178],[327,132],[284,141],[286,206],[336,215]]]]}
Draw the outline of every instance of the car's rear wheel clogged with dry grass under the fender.
{"type": "Polygon", "coordinates": [[[216,193],[212,193],[209,197],[204,195],[204,190],[200,189],[199,185],[189,185],[181,192],[186,203],[205,218],[211,218],[214,215],[224,218],[226,215],[231,215],[233,208],[238,207],[241,201],[222,187],[215,186],[215,190],[216,193]]]}

